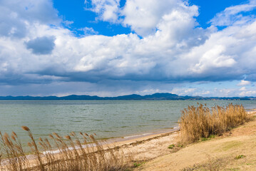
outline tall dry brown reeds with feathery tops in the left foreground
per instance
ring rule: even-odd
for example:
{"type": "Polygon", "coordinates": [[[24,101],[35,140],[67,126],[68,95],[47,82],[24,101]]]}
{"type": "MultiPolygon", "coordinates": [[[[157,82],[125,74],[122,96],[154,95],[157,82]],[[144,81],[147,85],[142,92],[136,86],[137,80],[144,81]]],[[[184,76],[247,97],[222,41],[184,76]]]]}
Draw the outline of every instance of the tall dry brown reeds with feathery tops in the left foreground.
{"type": "Polygon", "coordinates": [[[93,135],[72,132],[61,137],[53,133],[51,140],[39,138],[36,142],[31,130],[22,128],[31,139],[26,152],[16,133],[0,132],[0,170],[126,170],[128,166],[121,150],[98,142],[93,135]]]}

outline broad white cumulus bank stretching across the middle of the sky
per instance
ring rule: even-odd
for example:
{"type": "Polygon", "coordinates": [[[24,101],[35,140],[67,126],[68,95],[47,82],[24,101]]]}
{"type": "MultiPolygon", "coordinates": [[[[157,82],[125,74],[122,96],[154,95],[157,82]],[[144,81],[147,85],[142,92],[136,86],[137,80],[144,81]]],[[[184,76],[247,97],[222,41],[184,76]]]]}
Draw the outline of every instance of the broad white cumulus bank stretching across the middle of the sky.
{"type": "MultiPolygon", "coordinates": [[[[170,2],[174,4],[175,1],[170,2]]],[[[153,1],[151,5],[155,6],[153,1]]],[[[256,64],[255,58],[250,56],[256,46],[256,22],[242,27],[230,26],[223,31],[210,28],[203,31],[195,28],[193,16],[198,13],[197,7],[180,4],[180,1],[172,7],[155,25],[158,31],[142,39],[134,33],[77,38],[66,28],[28,23],[29,36],[16,41],[15,56],[11,50],[12,39],[2,39],[2,44],[9,45],[9,48],[3,48],[5,56],[10,56],[3,56],[3,62],[9,63],[6,72],[21,67],[26,72],[64,75],[71,79],[83,80],[86,77],[86,81],[102,78],[145,81],[200,81],[208,78],[215,81],[239,77],[256,64]],[[42,36],[54,36],[55,48],[51,55],[39,58],[31,54],[23,42],[42,36]],[[244,51],[245,47],[247,51],[244,51]],[[245,58],[250,63],[245,62],[245,58]],[[16,66],[10,62],[13,59],[33,61],[34,64],[26,66],[21,61],[16,66]],[[49,68],[53,70],[51,73],[46,72],[49,68]],[[83,74],[73,75],[76,72],[83,74]]],[[[86,31],[94,30],[86,28],[86,31]]]]}

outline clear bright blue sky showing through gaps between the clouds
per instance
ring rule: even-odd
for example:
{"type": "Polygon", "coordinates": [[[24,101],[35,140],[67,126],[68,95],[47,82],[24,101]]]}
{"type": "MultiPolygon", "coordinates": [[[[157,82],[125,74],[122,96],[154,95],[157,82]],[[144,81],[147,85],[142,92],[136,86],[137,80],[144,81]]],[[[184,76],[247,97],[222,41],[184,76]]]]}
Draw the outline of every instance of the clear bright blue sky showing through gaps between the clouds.
{"type": "MultiPolygon", "coordinates": [[[[224,11],[228,6],[235,6],[239,4],[245,4],[247,1],[234,1],[234,0],[216,0],[216,1],[202,1],[202,0],[191,0],[188,1],[190,5],[197,5],[199,16],[195,17],[200,27],[207,28],[210,26],[208,21],[213,19],[215,14],[224,11]]],[[[122,0],[119,2],[120,8],[125,6],[126,1],[122,0]]],[[[98,15],[90,10],[92,8],[91,1],[78,0],[73,3],[68,0],[55,0],[53,1],[54,8],[58,9],[58,15],[63,20],[73,21],[71,30],[75,33],[83,34],[78,31],[78,28],[91,27],[95,29],[98,34],[106,36],[114,36],[121,33],[130,33],[132,30],[129,27],[123,27],[121,24],[111,24],[106,21],[97,20],[98,15]],[[76,10],[74,10],[76,9],[76,10]]],[[[65,25],[64,25],[65,26],[65,25]]]]}

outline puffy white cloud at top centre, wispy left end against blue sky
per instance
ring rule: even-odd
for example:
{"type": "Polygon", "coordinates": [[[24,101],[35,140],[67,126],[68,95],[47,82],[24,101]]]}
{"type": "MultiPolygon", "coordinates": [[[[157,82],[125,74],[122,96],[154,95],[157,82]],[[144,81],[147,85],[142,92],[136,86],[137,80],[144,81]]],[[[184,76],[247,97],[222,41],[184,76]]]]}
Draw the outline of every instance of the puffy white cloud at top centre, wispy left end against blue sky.
{"type": "Polygon", "coordinates": [[[93,7],[87,10],[97,13],[98,19],[129,26],[144,37],[157,30],[164,31],[166,27],[173,31],[179,29],[180,35],[185,25],[190,24],[189,28],[197,25],[193,17],[198,16],[198,6],[188,6],[181,0],[128,0],[122,9],[120,0],[92,0],[91,4],[93,7]]]}

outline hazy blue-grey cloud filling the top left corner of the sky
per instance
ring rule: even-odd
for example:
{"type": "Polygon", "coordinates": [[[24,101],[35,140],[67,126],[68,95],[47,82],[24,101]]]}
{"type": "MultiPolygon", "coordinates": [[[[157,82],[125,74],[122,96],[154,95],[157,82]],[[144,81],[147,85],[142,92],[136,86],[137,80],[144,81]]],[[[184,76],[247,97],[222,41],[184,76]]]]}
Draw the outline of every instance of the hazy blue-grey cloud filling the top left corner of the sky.
{"type": "Polygon", "coordinates": [[[0,36],[24,37],[28,24],[59,24],[58,11],[51,0],[1,0],[0,36]]]}

